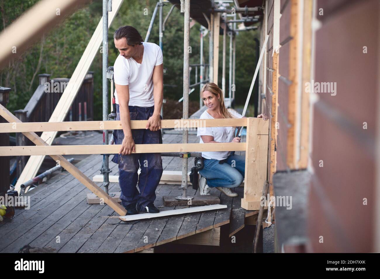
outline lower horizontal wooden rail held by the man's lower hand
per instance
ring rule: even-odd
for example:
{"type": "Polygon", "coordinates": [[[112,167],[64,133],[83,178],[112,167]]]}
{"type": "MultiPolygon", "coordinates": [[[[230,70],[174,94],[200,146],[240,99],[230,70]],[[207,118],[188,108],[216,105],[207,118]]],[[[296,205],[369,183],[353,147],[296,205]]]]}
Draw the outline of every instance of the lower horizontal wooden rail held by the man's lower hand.
{"type": "MultiPolygon", "coordinates": [[[[117,154],[121,145],[47,145],[0,147],[0,156],[117,154]]],[[[136,144],[136,153],[245,151],[245,143],[136,144]]]]}

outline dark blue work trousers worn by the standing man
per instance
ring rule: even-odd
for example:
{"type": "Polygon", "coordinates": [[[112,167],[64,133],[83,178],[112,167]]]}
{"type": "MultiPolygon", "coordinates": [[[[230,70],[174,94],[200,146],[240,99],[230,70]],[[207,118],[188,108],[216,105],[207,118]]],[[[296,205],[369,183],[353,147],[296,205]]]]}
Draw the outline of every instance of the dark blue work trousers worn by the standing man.
{"type": "MultiPolygon", "coordinates": [[[[154,106],[129,106],[129,112],[131,120],[148,120],[153,115],[154,106]]],[[[120,120],[118,104],[116,104],[116,113],[116,120],[120,120]]],[[[162,143],[161,130],[153,132],[149,129],[133,129],[132,137],[135,144],[162,143]]],[[[115,144],[121,144],[123,139],[123,130],[114,130],[115,144]]],[[[163,172],[160,153],[115,154],[112,162],[119,164],[120,200],[123,206],[137,203],[137,209],[143,211],[145,206],[154,202],[155,191],[163,172]],[[140,175],[138,175],[139,167],[141,167],[140,175]]]]}

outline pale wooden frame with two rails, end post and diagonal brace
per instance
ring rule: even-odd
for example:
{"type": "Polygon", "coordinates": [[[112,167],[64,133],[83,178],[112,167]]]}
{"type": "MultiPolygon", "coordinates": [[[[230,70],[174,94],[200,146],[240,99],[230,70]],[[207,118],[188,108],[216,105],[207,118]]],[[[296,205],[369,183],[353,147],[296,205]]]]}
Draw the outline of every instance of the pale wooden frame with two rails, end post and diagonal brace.
{"type": "MultiPolygon", "coordinates": [[[[0,147],[0,156],[15,155],[49,155],[55,161],[78,178],[87,188],[98,197],[103,198],[112,209],[120,215],[125,215],[125,210],[115,200],[99,188],[93,181],[83,175],[76,167],[68,162],[61,155],[63,154],[105,154],[118,153],[119,145],[56,145],[50,146],[43,139],[38,137],[33,130],[41,131],[52,129],[62,131],[70,126],[70,129],[109,129],[120,128],[119,121],[83,121],[83,122],[57,122],[57,123],[22,123],[5,107],[0,107],[0,115],[10,123],[1,123],[0,132],[7,132],[13,125],[13,132],[22,132],[28,139],[32,140],[36,146],[0,147]],[[98,126],[96,126],[98,125],[98,126]],[[103,126],[104,125],[104,126],[103,126]],[[32,132],[33,131],[33,132],[32,132]]],[[[145,128],[147,120],[132,120],[131,129],[145,128]]],[[[268,133],[269,121],[260,118],[240,118],[240,119],[207,119],[207,120],[162,120],[164,128],[198,128],[198,127],[229,127],[247,126],[246,143],[176,143],[176,144],[144,144],[136,145],[136,153],[160,153],[160,152],[192,152],[192,151],[245,151],[245,183],[244,198],[242,207],[247,210],[258,210],[260,208],[261,191],[266,180],[267,160],[268,160],[268,133]],[[185,124],[184,124],[185,123],[185,124]],[[189,124],[189,125],[187,125],[189,124]]],[[[69,130],[70,130],[69,129],[69,130]]]]}

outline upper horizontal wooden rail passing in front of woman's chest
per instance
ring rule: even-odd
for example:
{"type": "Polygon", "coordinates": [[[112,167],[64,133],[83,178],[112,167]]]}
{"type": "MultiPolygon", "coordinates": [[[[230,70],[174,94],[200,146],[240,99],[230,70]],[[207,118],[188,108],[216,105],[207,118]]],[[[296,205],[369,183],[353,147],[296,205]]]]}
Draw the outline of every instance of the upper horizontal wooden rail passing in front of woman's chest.
{"type": "MultiPolygon", "coordinates": [[[[131,129],[145,129],[148,120],[132,120],[131,129]]],[[[223,119],[169,119],[161,120],[161,128],[198,127],[234,127],[247,126],[247,118],[223,119]]],[[[0,123],[1,133],[14,132],[47,132],[47,131],[87,131],[87,130],[117,130],[122,129],[117,121],[72,121],[72,122],[29,122],[29,123],[0,123]]]]}

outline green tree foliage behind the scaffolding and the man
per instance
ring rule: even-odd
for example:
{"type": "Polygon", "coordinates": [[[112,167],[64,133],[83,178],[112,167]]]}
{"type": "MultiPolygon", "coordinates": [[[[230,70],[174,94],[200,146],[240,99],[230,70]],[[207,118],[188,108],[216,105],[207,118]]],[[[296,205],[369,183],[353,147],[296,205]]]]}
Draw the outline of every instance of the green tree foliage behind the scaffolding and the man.
{"type": "MultiPolygon", "coordinates": [[[[38,0],[0,0],[0,24],[2,30],[11,24],[17,17],[33,6],[38,0]]],[[[114,46],[113,33],[123,25],[135,27],[142,38],[146,36],[149,22],[152,17],[156,0],[128,0],[124,1],[119,13],[109,29],[109,65],[112,66],[119,55],[114,46]],[[144,13],[145,12],[145,13],[144,13]],[[146,14],[147,13],[147,14],[146,14]]],[[[163,7],[163,18],[169,12],[171,4],[163,7]]],[[[102,1],[97,0],[82,8],[62,24],[57,25],[51,32],[21,55],[17,60],[9,63],[9,67],[0,72],[0,85],[11,87],[10,110],[24,108],[36,87],[38,86],[38,74],[48,73],[51,78],[71,77],[76,65],[81,58],[95,28],[102,15],[102,1]]],[[[184,17],[180,10],[174,8],[163,32],[164,55],[164,96],[166,99],[178,100],[182,95],[183,84],[183,26],[184,17]],[[174,85],[174,87],[173,87],[174,85]]],[[[200,59],[199,36],[200,25],[196,23],[190,29],[190,64],[198,64],[200,59]]],[[[247,96],[250,82],[255,69],[255,42],[256,33],[240,32],[236,40],[236,97],[238,103],[243,103],[247,96]]],[[[158,13],[154,22],[149,42],[158,44],[158,13]]],[[[222,85],[222,46],[223,37],[220,36],[219,55],[219,84],[222,85]]],[[[226,91],[228,92],[228,59],[229,38],[227,38],[226,51],[226,91]]],[[[208,35],[204,37],[204,61],[208,63],[208,35]]],[[[102,54],[99,52],[90,67],[94,72],[94,118],[101,120],[102,103],[102,54]]],[[[198,69],[199,74],[199,69],[198,69]]],[[[199,80],[198,80],[199,81],[199,80]]],[[[195,69],[191,71],[190,82],[195,82],[195,69]]],[[[190,100],[199,100],[199,86],[190,95],[190,100]]],[[[179,104],[182,107],[182,103],[179,104]]]]}

